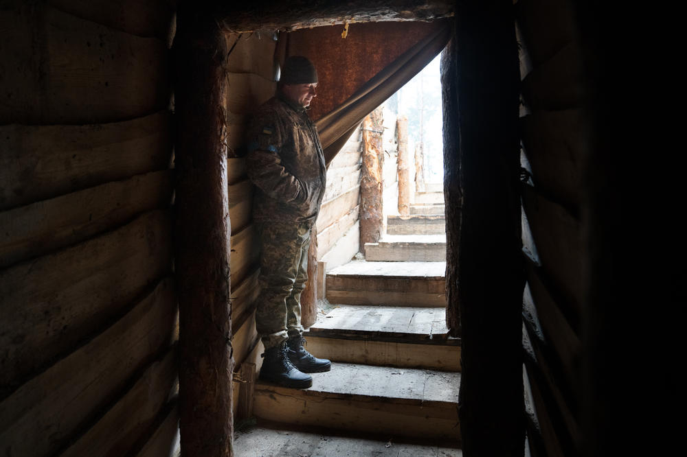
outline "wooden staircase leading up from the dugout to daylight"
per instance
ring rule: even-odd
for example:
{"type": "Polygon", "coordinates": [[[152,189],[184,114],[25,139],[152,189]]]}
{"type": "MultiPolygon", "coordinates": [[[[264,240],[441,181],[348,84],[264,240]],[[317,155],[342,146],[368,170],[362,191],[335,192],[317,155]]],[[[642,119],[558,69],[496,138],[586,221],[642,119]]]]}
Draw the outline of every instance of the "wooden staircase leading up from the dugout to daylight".
{"type": "Polygon", "coordinates": [[[365,246],[368,259],[328,272],[330,309],[305,336],[332,370],[305,390],[258,382],[256,417],[458,446],[460,340],[444,320],[445,235],[407,224],[406,235],[365,246]]]}

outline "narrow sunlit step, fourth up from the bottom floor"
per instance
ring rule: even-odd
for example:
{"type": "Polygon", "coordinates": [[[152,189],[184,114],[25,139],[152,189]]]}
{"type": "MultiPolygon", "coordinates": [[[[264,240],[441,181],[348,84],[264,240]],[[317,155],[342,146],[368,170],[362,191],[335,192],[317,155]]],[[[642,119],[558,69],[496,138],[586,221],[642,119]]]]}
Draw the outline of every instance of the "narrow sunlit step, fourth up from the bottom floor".
{"type": "Polygon", "coordinates": [[[446,235],[384,235],[365,243],[367,261],[445,261],[446,235]]]}

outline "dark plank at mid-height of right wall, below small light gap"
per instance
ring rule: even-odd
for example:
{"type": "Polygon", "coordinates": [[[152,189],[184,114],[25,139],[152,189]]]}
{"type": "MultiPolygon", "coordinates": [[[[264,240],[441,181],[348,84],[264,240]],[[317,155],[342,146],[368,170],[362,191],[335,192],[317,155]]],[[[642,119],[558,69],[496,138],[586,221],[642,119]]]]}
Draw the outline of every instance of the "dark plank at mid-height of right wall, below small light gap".
{"type": "Polygon", "coordinates": [[[570,305],[581,316],[582,241],[580,222],[563,207],[543,196],[531,186],[523,187],[526,211],[541,265],[556,288],[570,297],[570,305]]]}

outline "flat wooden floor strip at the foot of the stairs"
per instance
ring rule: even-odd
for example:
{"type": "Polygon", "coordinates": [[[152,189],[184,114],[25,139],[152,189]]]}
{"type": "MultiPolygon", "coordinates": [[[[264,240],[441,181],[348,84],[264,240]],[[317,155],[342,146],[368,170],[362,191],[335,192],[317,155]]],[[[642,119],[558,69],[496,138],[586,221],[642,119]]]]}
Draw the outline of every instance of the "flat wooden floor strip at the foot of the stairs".
{"type": "MultiPolygon", "coordinates": [[[[323,434],[322,430],[302,430],[278,423],[260,421],[257,425],[236,430],[234,455],[249,456],[376,456],[376,457],[461,457],[458,447],[436,443],[398,443],[388,436],[378,439],[342,436],[341,432],[323,434]]],[[[350,435],[350,434],[349,434],[350,435]]]]}

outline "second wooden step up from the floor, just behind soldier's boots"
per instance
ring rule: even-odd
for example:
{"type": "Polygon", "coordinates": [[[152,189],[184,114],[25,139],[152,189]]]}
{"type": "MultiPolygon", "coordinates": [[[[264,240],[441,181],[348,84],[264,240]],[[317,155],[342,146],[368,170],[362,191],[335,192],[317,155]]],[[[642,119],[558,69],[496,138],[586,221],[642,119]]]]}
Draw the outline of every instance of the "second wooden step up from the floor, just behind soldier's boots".
{"type": "Polygon", "coordinates": [[[337,305],[304,333],[307,349],[335,362],[460,371],[460,339],[432,307],[337,305]]]}

